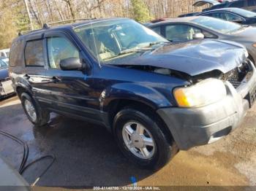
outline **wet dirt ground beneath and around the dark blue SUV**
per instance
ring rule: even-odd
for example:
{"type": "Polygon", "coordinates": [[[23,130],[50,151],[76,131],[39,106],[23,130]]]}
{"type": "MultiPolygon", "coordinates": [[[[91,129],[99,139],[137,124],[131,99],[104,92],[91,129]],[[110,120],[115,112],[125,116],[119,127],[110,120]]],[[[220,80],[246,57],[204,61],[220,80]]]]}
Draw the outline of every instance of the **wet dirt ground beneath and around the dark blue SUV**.
{"type": "MultiPolygon", "coordinates": [[[[131,176],[138,186],[256,186],[256,105],[225,139],[179,152],[155,173],[129,163],[110,133],[97,125],[53,114],[47,127],[34,128],[16,96],[0,101],[0,116],[0,130],[29,144],[29,161],[56,156],[38,186],[125,186],[131,176]]],[[[0,136],[0,155],[18,168],[22,149],[0,136]]],[[[34,182],[48,162],[37,163],[23,177],[34,182]]]]}

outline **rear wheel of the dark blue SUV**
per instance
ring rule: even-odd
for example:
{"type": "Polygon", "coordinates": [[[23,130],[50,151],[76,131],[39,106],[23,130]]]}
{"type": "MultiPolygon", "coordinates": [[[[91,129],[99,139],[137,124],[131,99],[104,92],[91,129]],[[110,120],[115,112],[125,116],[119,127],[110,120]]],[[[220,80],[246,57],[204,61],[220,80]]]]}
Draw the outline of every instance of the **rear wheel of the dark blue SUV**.
{"type": "Polygon", "coordinates": [[[50,113],[42,109],[28,93],[22,93],[20,101],[27,117],[37,127],[47,124],[50,120],[50,113]]]}

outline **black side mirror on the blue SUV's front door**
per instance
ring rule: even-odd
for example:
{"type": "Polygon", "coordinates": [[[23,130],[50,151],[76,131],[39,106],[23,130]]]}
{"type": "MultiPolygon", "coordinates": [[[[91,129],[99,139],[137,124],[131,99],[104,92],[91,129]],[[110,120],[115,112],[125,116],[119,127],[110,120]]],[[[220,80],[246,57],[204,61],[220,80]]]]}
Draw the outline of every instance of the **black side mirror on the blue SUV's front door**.
{"type": "Polygon", "coordinates": [[[83,69],[83,64],[79,58],[66,58],[59,63],[61,70],[80,70],[83,69]]]}

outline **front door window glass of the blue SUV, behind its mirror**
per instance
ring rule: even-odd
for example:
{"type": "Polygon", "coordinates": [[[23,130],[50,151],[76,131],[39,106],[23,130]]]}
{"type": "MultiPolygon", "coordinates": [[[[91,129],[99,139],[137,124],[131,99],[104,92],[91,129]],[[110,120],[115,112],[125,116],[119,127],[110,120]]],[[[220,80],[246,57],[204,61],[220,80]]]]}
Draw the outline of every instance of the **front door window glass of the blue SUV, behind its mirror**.
{"type": "Polygon", "coordinates": [[[50,68],[60,69],[59,63],[66,58],[79,58],[78,49],[64,37],[48,38],[50,68]]]}

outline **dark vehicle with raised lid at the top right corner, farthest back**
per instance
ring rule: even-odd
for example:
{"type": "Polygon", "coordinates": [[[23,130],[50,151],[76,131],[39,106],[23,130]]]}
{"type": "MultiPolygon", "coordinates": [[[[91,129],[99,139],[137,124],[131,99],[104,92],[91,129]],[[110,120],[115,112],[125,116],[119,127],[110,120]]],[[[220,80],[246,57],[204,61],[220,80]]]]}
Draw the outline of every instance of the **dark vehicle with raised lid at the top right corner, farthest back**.
{"type": "Polygon", "coordinates": [[[196,1],[195,4],[193,4],[193,6],[200,7],[205,4],[210,4],[211,7],[203,9],[203,12],[222,8],[241,8],[247,9],[252,12],[256,12],[256,0],[224,1],[222,3],[213,0],[199,0],[196,1]]]}

